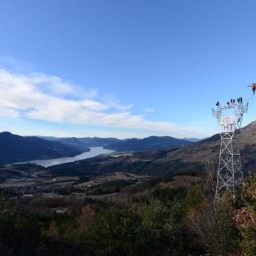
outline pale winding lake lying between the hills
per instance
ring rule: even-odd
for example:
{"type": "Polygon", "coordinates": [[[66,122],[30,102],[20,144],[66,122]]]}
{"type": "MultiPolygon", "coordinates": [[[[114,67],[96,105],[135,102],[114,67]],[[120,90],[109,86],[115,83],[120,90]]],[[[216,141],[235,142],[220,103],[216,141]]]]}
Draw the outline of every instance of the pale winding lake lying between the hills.
{"type": "MultiPolygon", "coordinates": [[[[56,164],[70,163],[70,162],[74,162],[74,161],[78,161],[78,160],[83,160],[86,158],[99,156],[102,154],[110,154],[110,153],[115,152],[114,150],[105,149],[103,147],[92,147],[90,149],[91,149],[90,152],[83,152],[82,154],[74,156],[74,157],[60,157],[60,158],[55,158],[55,159],[31,160],[31,161],[22,162],[19,164],[31,163],[31,164],[38,164],[38,165],[41,165],[44,167],[49,167],[49,166],[56,165],[56,164]]],[[[8,164],[8,165],[10,165],[10,164],[8,164]]]]}

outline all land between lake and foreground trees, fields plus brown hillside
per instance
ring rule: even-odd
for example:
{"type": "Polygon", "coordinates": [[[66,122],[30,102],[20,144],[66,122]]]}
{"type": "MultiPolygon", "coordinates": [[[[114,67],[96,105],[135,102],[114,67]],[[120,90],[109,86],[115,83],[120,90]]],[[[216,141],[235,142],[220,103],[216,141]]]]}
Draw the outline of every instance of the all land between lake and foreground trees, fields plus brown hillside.
{"type": "MultiPolygon", "coordinates": [[[[240,145],[245,173],[253,172],[256,168],[256,141],[251,136],[255,130],[256,122],[241,129],[240,145]]],[[[216,166],[219,147],[220,138],[216,134],[177,148],[141,152],[110,151],[109,154],[47,168],[31,163],[15,164],[0,168],[0,188],[9,191],[12,196],[21,197],[38,194],[104,200],[136,197],[140,186],[147,188],[141,184],[147,182],[150,184],[148,189],[153,190],[156,184],[161,188],[177,188],[196,182],[204,173],[205,164],[216,166]],[[164,177],[170,180],[161,182],[164,177]],[[157,179],[160,180],[154,183],[157,179]]]]}

